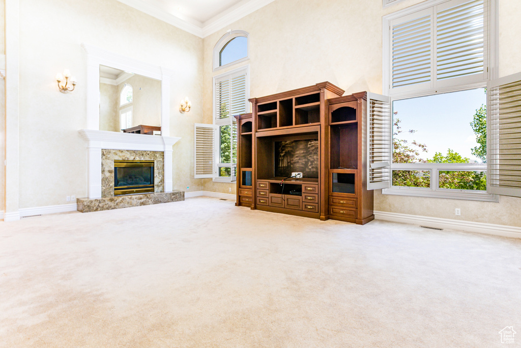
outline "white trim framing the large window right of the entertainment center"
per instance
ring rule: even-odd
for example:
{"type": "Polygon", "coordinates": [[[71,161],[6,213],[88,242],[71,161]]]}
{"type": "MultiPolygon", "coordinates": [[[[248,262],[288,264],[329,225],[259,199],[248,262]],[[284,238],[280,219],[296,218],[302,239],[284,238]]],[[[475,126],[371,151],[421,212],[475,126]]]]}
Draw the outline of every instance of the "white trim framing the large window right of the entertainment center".
{"type": "MultiPolygon", "coordinates": [[[[382,0],[387,6],[390,5],[389,0],[382,0]]],[[[397,0],[396,2],[401,1],[397,0]]],[[[395,18],[406,16],[417,11],[424,10],[426,8],[439,5],[451,0],[427,0],[415,6],[405,8],[403,10],[396,11],[390,15],[382,17],[382,91],[384,95],[390,95],[391,107],[392,103],[397,100],[425,97],[427,95],[443,94],[456,91],[463,91],[475,88],[487,87],[487,81],[490,79],[497,78],[499,75],[499,47],[498,47],[498,34],[499,34],[499,4],[497,0],[488,0],[488,33],[487,33],[487,55],[488,55],[488,79],[483,81],[476,81],[470,83],[460,83],[457,85],[442,87],[438,89],[428,90],[408,90],[399,93],[390,93],[390,25],[391,21],[395,18]]],[[[395,1],[392,1],[395,3],[395,1]]],[[[392,109],[391,109],[392,110],[392,109]]],[[[392,147],[391,147],[392,151],[392,147]]],[[[392,158],[392,157],[391,157],[392,158]]],[[[437,198],[449,198],[449,199],[464,199],[464,200],[479,200],[498,202],[499,196],[487,193],[487,191],[474,191],[474,190],[458,190],[458,189],[443,189],[439,188],[439,171],[443,170],[457,170],[457,171],[480,171],[487,170],[486,163],[391,163],[391,185],[392,185],[392,171],[393,170],[429,170],[430,175],[430,188],[421,187],[402,187],[402,186],[390,186],[389,188],[383,188],[382,194],[387,195],[403,195],[403,196],[417,196],[417,197],[437,197],[437,198]]]]}

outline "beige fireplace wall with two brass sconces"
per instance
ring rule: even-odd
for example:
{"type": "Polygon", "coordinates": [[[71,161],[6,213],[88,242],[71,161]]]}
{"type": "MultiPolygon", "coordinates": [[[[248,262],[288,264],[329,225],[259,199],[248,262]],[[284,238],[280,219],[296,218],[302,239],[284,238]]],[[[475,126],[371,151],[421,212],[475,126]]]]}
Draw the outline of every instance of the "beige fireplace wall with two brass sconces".
{"type": "Polygon", "coordinates": [[[173,147],[173,188],[197,186],[193,123],[203,122],[203,40],[116,0],[20,0],[20,208],[87,195],[86,143],[78,134],[86,128],[81,43],[173,71],[170,135],[182,137],[173,147]],[[54,80],[64,68],[78,79],[68,94],[59,93],[54,80]],[[194,107],[180,114],[177,104],[185,95],[194,107]]]}

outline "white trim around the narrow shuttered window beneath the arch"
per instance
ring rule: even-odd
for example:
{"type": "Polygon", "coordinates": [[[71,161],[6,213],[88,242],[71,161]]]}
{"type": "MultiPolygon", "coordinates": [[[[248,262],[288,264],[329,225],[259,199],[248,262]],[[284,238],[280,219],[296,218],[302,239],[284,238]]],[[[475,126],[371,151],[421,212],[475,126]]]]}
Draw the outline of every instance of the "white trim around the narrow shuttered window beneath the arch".
{"type": "MultiPolygon", "coordinates": [[[[237,62],[234,62],[234,64],[237,63],[237,62]]],[[[214,125],[217,126],[218,130],[217,130],[217,136],[216,136],[216,139],[215,139],[215,165],[216,165],[216,168],[215,168],[215,172],[217,173],[216,177],[214,177],[212,180],[214,182],[217,182],[217,183],[231,183],[231,177],[224,177],[224,176],[219,176],[218,175],[218,172],[219,172],[219,167],[231,167],[233,163],[219,163],[217,162],[217,160],[219,159],[219,156],[220,156],[220,126],[231,126],[232,125],[232,122],[233,122],[233,116],[229,116],[228,118],[225,118],[225,119],[217,119],[217,115],[215,114],[215,110],[217,110],[217,105],[216,105],[216,101],[215,101],[215,81],[222,78],[222,77],[225,77],[225,76],[228,76],[228,75],[232,75],[232,74],[237,74],[237,73],[241,73],[242,71],[244,71],[246,73],[246,101],[248,99],[250,99],[250,64],[247,64],[247,65],[244,65],[244,66],[241,66],[240,68],[236,68],[236,69],[233,69],[233,70],[230,70],[230,71],[227,71],[226,73],[223,73],[223,74],[219,74],[219,75],[216,75],[213,77],[212,79],[212,112],[213,112],[213,121],[214,121],[214,125]]],[[[247,103],[246,102],[246,113],[250,112],[250,103],[247,103]]],[[[237,163],[235,163],[235,165],[237,166],[237,163]]],[[[237,173],[235,173],[237,176],[237,173]]]]}

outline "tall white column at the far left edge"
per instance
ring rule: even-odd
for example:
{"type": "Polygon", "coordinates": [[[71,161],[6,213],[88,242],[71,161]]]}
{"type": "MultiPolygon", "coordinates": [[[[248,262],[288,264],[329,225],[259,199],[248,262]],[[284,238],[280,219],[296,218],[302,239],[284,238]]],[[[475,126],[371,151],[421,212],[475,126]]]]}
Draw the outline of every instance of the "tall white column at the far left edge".
{"type": "Polygon", "coordinates": [[[5,0],[5,213],[4,221],[20,219],[19,211],[19,0],[5,0]]]}

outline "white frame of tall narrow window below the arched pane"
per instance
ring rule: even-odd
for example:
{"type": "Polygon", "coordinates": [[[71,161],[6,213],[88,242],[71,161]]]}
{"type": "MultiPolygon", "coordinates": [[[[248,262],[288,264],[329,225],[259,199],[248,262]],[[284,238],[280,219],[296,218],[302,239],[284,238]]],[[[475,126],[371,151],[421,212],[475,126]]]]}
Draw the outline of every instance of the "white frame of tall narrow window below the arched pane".
{"type": "MultiPolygon", "coordinates": [[[[236,62],[234,62],[236,63],[236,62]]],[[[245,113],[249,112],[250,109],[250,103],[248,102],[248,99],[250,98],[250,65],[244,65],[238,68],[235,68],[233,70],[229,70],[226,73],[219,74],[213,77],[212,79],[212,85],[213,85],[213,92],[212,92],[212,113],[213,113],[213,125],[217,127],[217,134],[214,139],[214,149],[215,149],[215,170],[216,176],[213,178],[214,182],[220,182],[220,183],[231,183],[237,180],[237,163],[220,163],[220,127],[221,126],[230,126],[231,129],[233,129],[233,124],[235,123],[236,130],[237,130],[237,120],[233,115],[229,115],[227,118],[217,118],[217,104],[216,104],[216,82],[220,79],[224,79],[226,77],[230,78],[232,75],[244,73],[246,75],[245,82],[246,82],[246,101],[245,101],[245,113]],[[235,166],[235,175],[233,175],[233,167],[235,166]],[[219,168],[220,167],[230,167],[231,168],[231,176],[219,176],[219,168]],[[235,178],[235,179],[234,179],[235,178]]],[[[237,136],[235,137],[235,141],[237,141],[237,136]]],[[[231,146],[231,149],[233,149],[233,144],[231,146]]],[[[235,144],[235,151],[237,151],[237,144],[235,144]]],[[[233,158],[233,153],[230,155],[230,162],[233,158]]]]}

